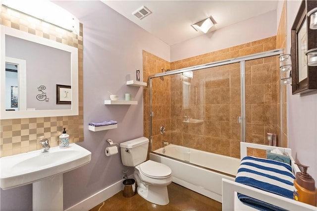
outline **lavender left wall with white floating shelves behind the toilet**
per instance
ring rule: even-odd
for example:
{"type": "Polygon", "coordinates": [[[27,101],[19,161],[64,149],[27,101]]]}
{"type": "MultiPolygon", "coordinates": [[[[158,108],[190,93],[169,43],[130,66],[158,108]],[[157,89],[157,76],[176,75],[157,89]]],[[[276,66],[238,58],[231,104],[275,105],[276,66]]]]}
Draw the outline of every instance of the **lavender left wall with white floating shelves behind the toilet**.
{"type": "MultiPolygon", "coordinates": [[[[84,142],[79,145],[92,152],[89,164],[63,176],[64,209],[90,197],[122,179],[120,154],[106,157],[106,139],[116,143],[143,136],[143,90],[127,86],[142,73],[142,50],[169,60],[169,46],[127,20],[101,1],[55,1],[83,23],[84,42],[84,142]],[[123,100],[131,93],[138,105],[104,105],[110,91],[123,100]],[[89,122],[113,119],[118,128],[92,132],[89,122]]],[[[142,78],[142,74],[141,74],[142,78]]],[[[133,169],[133,168],[132,168],[133,169]]],[[[132,169],[129,173],[132,173],[132,169]]],[[[1,210],[32,210],[32,186],[1,190],[1,210]],[[21,201],[20,199],[26,198],[21,201]],[[18,200],[17,200],[18,199],[18,200]],[[21,209],[22,207],[22,209],[21,209]]]]}

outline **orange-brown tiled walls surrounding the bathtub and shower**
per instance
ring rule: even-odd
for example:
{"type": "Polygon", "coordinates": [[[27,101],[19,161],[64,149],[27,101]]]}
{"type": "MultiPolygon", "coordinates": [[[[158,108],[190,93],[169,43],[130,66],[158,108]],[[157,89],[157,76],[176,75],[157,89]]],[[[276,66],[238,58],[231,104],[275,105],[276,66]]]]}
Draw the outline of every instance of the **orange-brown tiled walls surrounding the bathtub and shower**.
{"type": "MultiPolygon", "coordinates": [[[[274,49],[276,49],[275,36],[171,62],[170,67],[172,70],[179,69],[274,49]]],[[[161,72],[160,67],[164,67],[162,65],[166,66],[164,67],[165,69],[169,66],[168,62],[162,61],[162,59],[150,53],[144,52],[143,56],[144,71],[146,72],[144,81],[148,81],[149,75],[161,72]]],[[[276,133],[279,138],[279,111],[277,105],[279,69],[277,68],[276,59],[278,59],[277,56],[271,56],[246,62],[248,142],[266,144],[266,132],[276,133]]],[[[153,96],[155,96],[153,98],[155,113],[153,118],[153,150],[162,147],[162,141],[168,141],[221,155],[239,157],[240,131],[237,129],[239,126],[235,125],[237,124],[237,119],[233,117],[234,115],[231,115],[233,112],[240,112],[239,64],[224,65],[215,67],[212,70],[199,70],[196,72],[197,74],[202,74],[201,77],[204,78],[204,74],[206,74],[204,71],[209,71],[207,74],[216,76],[215,78],[219,81],[214,84],[218,84],[218,87],[208,87],[208,81],[204,79],[205,85],[203,88],[205,90],[202,92],[204,92],[205,103],[195,106],[194,109],[184,109],[181,106],[181,86],[183,83],[181,75],[165,76],[153,80],[153,96]],[[228,82],[228,86],[223,86],[223,82],[228,82]],[[207,90],[208,88],[209,90],[207,90]],[[211,103],[211,98],[222,99],[225,103],[220,104],[220,101],[211,103]],[[224,117],[212,117],[212,109],[214,114],[225,113],[224,117]],[[228,112],[223,112],[222,109],[228,112]],[[184,116],[188,115],[193,118],[204,119],[204,123],[196,126],[197,128],[190,129],[186,128],[186,126],[184,128],[184,124],[181,122],[184,116]],[[217,121],[217,118],[221,120],[217,121]],[[161,125],[164,125],[167,130],[164,135],[159,134],[161,125]],[[186,133],[183,133],[183,131],[186,131],[186,133]],[[232,131],[236,131],[236,133],[232,133],[232,131]]],[[[195,74],[194,71],[193,79],[197,77],[195,74]]],[[[149,137],[149,86],[145,88],[144,94],[144,128],[145,136],[149,137]]]]}

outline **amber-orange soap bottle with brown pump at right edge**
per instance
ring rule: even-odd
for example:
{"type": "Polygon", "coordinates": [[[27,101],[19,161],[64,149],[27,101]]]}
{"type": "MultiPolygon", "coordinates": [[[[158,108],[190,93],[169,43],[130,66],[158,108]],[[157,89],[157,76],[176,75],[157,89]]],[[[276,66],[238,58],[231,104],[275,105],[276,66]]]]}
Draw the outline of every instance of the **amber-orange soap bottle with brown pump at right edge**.
{"type": "Polygon", "coordinates": [[[297,172],[294,180],[294,200],[317,206],[317,189],[315,180],[307,173],[309,166],[295,163],[303,167],[303,172],[297,172]]]}

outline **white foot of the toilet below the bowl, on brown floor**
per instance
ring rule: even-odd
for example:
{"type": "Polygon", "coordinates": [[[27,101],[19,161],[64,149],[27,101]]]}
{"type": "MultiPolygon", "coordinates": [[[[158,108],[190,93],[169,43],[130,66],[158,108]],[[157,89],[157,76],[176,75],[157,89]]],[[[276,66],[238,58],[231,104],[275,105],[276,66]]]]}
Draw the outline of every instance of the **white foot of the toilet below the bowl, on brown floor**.
{"type": "Polygon", "coordinates": [[[167,205],[169,203],[167,186],[147,185],[146,189],[138,187],[138,194],[145,200],[156,205],[167,205]]]}

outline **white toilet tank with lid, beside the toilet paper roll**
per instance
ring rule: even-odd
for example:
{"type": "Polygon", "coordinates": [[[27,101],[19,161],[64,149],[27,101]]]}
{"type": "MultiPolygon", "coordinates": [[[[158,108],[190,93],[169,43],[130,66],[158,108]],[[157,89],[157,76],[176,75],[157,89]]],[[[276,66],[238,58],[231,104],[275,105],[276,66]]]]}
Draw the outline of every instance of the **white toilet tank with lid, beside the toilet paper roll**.
{"type": "Polygon", "coordinates": [[[120,144],[121,160],[125,166],[136,166],[147,159],[149,139],[140,137],[120,144]]]}

